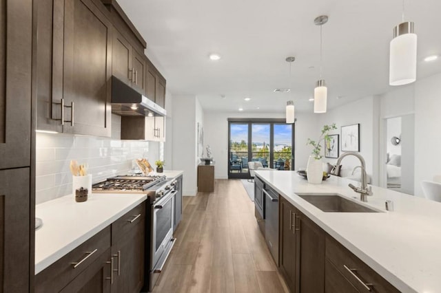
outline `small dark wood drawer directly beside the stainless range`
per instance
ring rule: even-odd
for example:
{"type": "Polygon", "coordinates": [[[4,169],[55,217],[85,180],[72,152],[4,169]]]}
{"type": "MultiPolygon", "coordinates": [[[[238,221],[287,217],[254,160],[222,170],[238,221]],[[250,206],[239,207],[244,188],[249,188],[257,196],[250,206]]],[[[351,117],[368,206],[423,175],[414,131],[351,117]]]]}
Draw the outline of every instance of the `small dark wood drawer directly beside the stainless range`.
{"type": "Polygon", "coordinates": [[[145,221],[145,202],[114,221],[112,224],[112,245],[141,221],[145,221]]]}

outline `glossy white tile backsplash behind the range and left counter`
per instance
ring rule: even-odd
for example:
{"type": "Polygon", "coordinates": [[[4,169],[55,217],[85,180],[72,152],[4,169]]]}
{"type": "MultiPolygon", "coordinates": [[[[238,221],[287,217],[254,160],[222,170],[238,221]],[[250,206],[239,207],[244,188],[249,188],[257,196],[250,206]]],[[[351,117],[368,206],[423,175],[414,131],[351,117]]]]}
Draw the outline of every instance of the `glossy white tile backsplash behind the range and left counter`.
{"type": "Polygon", "coordinates": [[[129,172],[136,158],[163,158],[158,142],[120,140],[121,118],[112,115],[112,138],[37,133],[36,203],[72,193],[70,160],[88,164],[92,182],[129,172]]]}

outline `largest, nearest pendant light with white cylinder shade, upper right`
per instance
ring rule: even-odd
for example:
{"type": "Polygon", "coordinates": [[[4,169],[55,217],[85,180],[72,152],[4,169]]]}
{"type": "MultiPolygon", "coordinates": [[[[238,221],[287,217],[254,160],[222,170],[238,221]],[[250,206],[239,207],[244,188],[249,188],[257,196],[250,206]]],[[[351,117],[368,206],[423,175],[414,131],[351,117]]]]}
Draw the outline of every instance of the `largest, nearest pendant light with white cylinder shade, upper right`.
{"type": "Polygon", "coordinates": [[[404,0],[402,1],[402,23],[393,28],[390,44],[389,85],[407,85],[416,80],[416,43],[414,23],[404,22],[404,0]]]}

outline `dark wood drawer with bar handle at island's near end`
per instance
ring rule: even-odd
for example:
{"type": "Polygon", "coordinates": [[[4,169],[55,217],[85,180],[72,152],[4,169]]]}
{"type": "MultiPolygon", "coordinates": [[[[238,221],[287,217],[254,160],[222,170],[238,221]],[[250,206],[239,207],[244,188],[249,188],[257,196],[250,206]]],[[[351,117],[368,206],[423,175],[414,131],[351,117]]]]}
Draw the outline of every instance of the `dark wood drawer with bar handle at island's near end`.
{"type": "Polygon", "coordinates": [[[371,292],[400,292],[330,236],[326,238],[326,258],[360,292],[368,292],[368,287],[371,292]]]}

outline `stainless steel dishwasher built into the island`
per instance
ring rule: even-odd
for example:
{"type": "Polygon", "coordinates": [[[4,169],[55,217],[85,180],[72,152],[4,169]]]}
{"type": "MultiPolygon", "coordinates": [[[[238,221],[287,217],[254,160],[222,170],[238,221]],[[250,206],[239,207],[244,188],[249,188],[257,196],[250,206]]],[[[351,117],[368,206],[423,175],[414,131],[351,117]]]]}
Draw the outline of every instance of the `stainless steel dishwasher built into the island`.
{"type": "Polygon", "coordinates": [[[278,193],[266,186],[265,194],[265,241],[278,266],[278,193]]]}

